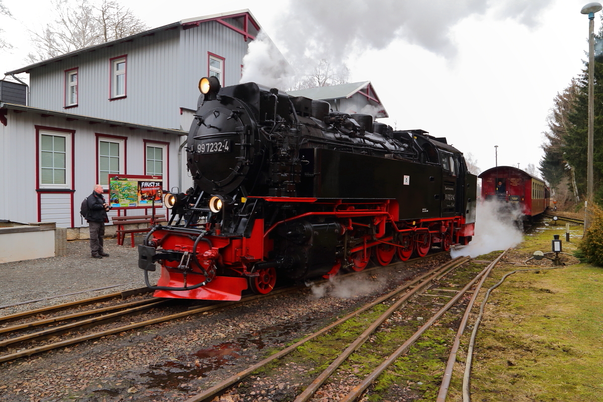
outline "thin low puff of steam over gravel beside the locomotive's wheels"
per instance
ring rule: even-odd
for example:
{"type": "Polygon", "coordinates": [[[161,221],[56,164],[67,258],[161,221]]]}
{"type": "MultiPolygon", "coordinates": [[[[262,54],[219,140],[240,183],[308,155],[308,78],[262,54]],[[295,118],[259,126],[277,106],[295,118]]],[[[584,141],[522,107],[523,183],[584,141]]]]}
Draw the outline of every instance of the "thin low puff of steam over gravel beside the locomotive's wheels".
{"type": "Polygon", "coordinates": [[[376,277],[376,280],[364,277],[347,277],[339,278],[333,277],[329,281],[321,284],[310,285],[312,291],[311,298],[320,299],[326,297],[339,297],[343,299],[349,299],[354,297],[361,297],[370,295],[385,286],[385,278],[380,275],[376,277]]]}

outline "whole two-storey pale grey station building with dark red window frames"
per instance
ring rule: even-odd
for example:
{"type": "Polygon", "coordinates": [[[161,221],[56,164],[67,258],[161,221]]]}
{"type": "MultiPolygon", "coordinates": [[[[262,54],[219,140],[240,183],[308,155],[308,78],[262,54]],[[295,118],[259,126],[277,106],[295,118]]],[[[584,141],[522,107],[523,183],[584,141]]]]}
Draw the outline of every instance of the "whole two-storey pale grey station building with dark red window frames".
{"type": "Polygon", "coordinates": [[[213,14],[7,72],[30,84],[0,81],[0,220],[86,227],[81,201],[109,174],[187,189],[198,81],[239,83],[260,29],[247,9],[213,14]]]}

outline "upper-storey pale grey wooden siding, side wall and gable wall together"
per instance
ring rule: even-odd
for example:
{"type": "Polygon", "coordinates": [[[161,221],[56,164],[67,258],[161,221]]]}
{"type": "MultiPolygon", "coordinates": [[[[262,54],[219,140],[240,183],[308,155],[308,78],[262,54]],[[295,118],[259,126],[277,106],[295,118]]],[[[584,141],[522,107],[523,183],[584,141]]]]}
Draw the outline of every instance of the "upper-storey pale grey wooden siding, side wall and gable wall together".
{"type": "Polygon", "coordinates": [[[180,128],[180,107],[197,110],[207,52],[224,57],[224,85],[239,83],[247,46],[215,21],[163,31],[46,64],[30,72],[30,105],[117,121],[180,128]],[[127,97],[109,100],[109,59],[127,55],[127,97]],[[78,69],[78,105],[65,109],[65,70],[78,69]]]}

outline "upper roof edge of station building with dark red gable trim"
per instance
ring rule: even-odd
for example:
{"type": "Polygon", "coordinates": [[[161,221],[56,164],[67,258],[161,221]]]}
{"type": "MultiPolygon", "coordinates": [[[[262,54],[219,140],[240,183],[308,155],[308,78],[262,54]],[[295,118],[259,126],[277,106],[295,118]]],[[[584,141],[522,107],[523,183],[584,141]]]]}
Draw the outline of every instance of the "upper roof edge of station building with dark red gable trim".
{"type": "Polygon", "coordinates": [[[20,74],[22,72],[29,72],[33,68],[41,67],[41,66],[44,66],[49,63],[55,63],[56,61],[61,61],[61,60],[64,60],[65,58],[74,57],[74,56],[77,56],[77,55],[85,53],[85,52],[93,52],[96,49],[108,48],[108,47],[114,46],[118,43],[132,42],[134,39],[137,39],[139,37],[151,36],[154,33],[160,32],[160,31],[174,30],[180,26],[182,26],[182,29],[188,30],[189,28],[198,27],[201,24],[201,22],[209,22],[209,21],[216,21],[219,24],[222,24],[222,25],[240,33],[241,35],[244,36],[245,41],[247,41],[248,37],[251,39],[255,39],[253,34],[251,34],[247,30],[247,22],[250,22],[251,25],[253,25],[253,27],[256,28],[256,30],[258,30],[258,31],[261,30],[260,25],[257,24],[256,18],[253,16],[253,14],[251,14],[251,11],[249,11],[247,8],[244,8],[243,10],[230,11],[227,13],[211,14],[211,15],[207,15],[207,16],[183,19],[178,22],[172,22],[172,24],[163,25],[163,27],[153,28],[148,31],[140,32],[140,33],[137,33],[134,35],[126,36],[126,37],[122,37],[121,39],[116,39],[116,40],[112,40],[110,42],[100,43],[99,45],[88,46],[87,48],[78,49],[78,50],[75,50],[75,51],[72,51],[69,53],[59,55],[57,57],[52,57],[47,60],[39,61],[38,63],[30,64],[29,66],[25,66],[20,69],[8,71],[5,74],[11,75],[11,74],[20,74]],[[243,24],[244,29],[235,27],[234,25],[232,25],[229,22],[224,20],[226,18],[238,18],[238,17],[244,17],[244,24],[243,24]]]}

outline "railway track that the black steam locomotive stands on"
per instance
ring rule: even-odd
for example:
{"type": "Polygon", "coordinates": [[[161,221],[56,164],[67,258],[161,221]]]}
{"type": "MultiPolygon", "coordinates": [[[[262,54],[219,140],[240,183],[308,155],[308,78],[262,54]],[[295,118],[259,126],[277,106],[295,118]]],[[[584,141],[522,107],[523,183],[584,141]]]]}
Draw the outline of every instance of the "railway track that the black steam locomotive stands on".
{"type": "MultiPolygon", "coordinates": [[[[350,272],[349,274],[338,276],[343,278],[350,275],[366,274],[367,272],[377,271],[379,269],[395,269],[407,265],[408,263],[413,263],[418,260],[438,256],[440,254],[443,253],[434,253],[423,258],[409,260],[408,262],[397,262],[385,267],[376,266],[373,268],[365,269],[361,272],[350,272]]],[[[316,281],[315,284],[322,283],[324,281],[327,280],[316,281]]],[[[126,300],[123,303],[116,303],[112,304],[111,306],[104,306],[104,304],[107,303],[115,303],[115,301],[118,301],[118,299],[120,298],[125,299],[132,295],[140,295],[148,292],[147,288],[142,288],[133,289],[133,291],[119,292],[100,297],[88,298],[86,300],[75,301],[71,303],[58,304],[57,306],[45,307],[43,309],[31,310],[8,316],[0,316],[0,351],[8,350],[8,353],[0,355],[0,363],[19,359],[20,357],[31,356],[33,354],[41,353],[43,351],[78,344],[80,342],[89,341],[90,339],[101,338],[110,334],[121,333],[140,327],[145,327],[147,325],[157,324],[159,322],[171,321],[172,319],[208,312],[210,310],[223,309],[224,307],[242,305],[259,300],[266,300],[269,298],[276,297],[277,295],[297,292],[300,289],[304,289],[305,287],[305,285],[302,285],[286,287],[283,289],[274,289],[274,291],[268,295],[251,295],[242,298],[240,301],[205,303],[206,305],[203,305],[201,307],[188,307],[186,305],[181,305],[177,307],[181,310],[177,313],[172,313],[168,315],[154,314],[156,315],[154,316],[154,318],[147,319],[144,321],[131,322],[127,325],[119,325],[117,327],[87,334],[78,334],[78,336],[72,336],[71,338],[66,339],[59,339],[59,337],[63,336],[63,338],[65,338],[66,335],[79,333],[80,331],[83,331],[87,328],[110,324],[112,322],[124,319],[125,317],[131,317],[133,315],[139,315],[145,312],[149,312],[151,309],[159,309],[170,306],[174,307],[175,304],[182,304],[183,301],[179,299],[158,299],[153,297],[146,297],[141,298],[140,300],[126,300]],[[63,310],[90,306],[93,304],[103,304],[103,306],[88,310],[80,309],[76,312],[69,312],[65,315],[57,315],[57,313],[62,312],[63,310]],[[31,318],[33,316],[37,316],[38,319],[34,321],[25,321],[27,318],[31,318]],[[16,322],[16,324],[10,325],[10,323],[12,322],[16,322]],[[40,345],[46,341],[48,341],[47,344],[40,345]],[[36,346],[33,347],[32,345],[36,346]]],[[[187,302],[190,303],[190,301],[187,302]]]]}

